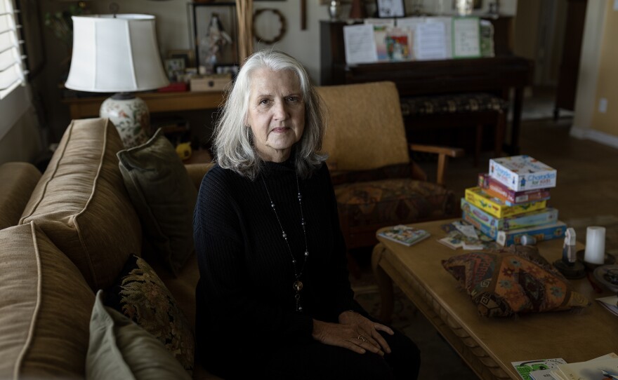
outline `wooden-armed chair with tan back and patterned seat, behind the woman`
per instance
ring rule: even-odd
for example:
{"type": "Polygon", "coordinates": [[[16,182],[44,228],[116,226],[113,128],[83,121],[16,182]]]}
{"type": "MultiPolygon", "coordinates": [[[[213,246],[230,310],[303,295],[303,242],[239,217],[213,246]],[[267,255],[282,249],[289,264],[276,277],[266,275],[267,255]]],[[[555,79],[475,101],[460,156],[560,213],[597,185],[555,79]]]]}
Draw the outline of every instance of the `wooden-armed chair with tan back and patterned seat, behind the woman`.
{"type": "Polygon", "coordinates": [[[395,83],[317,91],[328,112],[323,150],[348,250],[375,245],[383,226],[459,215],[459,200],[444,179],[448,158],[463,156],[463,149],[408,144],[395,83]],[[410,159],[411,149],[438,154],[435,182],[410,159]]]}

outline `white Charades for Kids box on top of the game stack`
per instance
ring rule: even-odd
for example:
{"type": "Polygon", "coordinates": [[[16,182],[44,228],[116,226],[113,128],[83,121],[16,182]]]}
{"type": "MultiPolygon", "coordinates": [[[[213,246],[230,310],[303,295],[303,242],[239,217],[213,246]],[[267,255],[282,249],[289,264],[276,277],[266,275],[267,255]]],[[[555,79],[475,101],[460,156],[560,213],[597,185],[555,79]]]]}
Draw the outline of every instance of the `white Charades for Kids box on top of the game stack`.
{"type": "Polygon", "coordinates": [[[514,191],[555,187],[556,171],[530,156],[489,160],[489,176],[514,191]]]}

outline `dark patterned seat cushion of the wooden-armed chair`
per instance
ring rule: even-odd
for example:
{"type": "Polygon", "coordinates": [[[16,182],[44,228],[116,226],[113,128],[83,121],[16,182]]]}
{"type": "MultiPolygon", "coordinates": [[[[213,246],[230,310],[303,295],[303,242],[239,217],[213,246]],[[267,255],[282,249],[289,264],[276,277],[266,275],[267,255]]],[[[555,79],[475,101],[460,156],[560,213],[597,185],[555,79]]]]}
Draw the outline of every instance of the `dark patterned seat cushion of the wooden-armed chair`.
{"type": "Polygon", "coordinates": [[[409,178],[340,184],[335,195],[340,219],[350,228],[442,219],[456,210],[452,191],[409,178]]]}

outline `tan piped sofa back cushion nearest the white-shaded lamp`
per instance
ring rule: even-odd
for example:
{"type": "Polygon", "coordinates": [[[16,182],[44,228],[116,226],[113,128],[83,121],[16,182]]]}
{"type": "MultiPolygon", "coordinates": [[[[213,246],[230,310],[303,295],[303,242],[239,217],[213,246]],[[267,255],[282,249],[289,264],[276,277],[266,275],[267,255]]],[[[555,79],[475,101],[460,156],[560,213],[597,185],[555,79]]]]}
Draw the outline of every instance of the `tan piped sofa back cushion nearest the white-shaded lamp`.
{"type": "Polygon", "coordinates": [[[73,121],[20,220],[36,221],[93,290],[112,285],[129,255],[140,255],[140,222],[118,168],[121,149],[107,119],[73,121]]]}

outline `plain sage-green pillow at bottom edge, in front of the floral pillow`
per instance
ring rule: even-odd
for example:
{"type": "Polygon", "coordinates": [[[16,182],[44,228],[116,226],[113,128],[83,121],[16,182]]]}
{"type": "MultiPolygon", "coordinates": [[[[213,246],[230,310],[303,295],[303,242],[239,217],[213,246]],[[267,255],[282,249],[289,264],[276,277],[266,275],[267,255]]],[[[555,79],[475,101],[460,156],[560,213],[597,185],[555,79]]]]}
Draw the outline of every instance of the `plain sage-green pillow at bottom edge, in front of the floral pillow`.
{"type": "Polygon", "coordinates": [[[103,304],[99,290],[90,320],[86,379],[191,379],[157,338],[103,304]]]}

